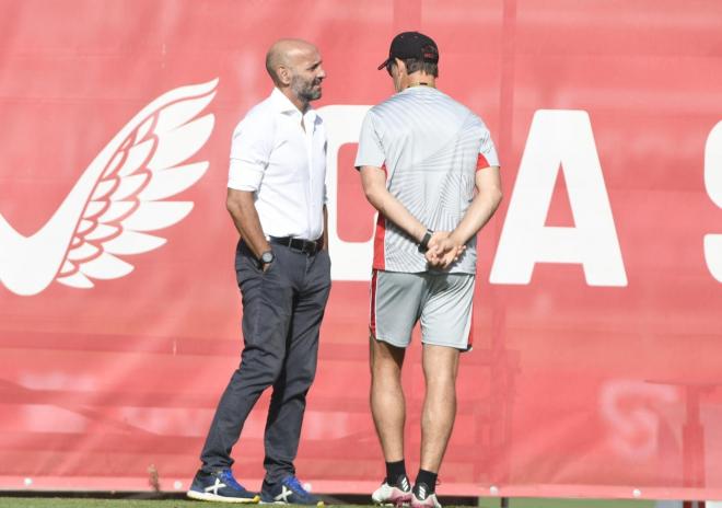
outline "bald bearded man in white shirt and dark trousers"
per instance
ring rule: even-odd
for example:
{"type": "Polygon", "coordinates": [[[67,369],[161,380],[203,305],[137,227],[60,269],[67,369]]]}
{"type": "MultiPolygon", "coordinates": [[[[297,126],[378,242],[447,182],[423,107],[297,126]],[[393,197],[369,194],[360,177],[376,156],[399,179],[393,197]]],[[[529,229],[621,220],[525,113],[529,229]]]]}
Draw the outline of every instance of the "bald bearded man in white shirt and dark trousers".
{"type": "Polygon", "coordinates": [[[202,466],[188,497],[323,506],[296,478],[306,393],[330,290],[326,132],[311,101],[326,77],[318,49],[281,39],[266,55],[273,82],[233,132],[226,208],[240,234],[235,272],[243,303],[241,365],[221,396],[202,466]],[[260,394],[273,388],[260,496],[233,476],[231,449],[260,394]]]}

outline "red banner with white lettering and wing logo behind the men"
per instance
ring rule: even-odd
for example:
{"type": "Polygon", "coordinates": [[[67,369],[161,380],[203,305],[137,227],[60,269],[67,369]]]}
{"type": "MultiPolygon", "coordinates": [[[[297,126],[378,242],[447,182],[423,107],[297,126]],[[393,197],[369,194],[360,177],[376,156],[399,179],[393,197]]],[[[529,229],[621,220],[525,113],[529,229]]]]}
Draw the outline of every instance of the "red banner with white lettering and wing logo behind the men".
{"type": "MultiPolygon", "coordinates": [[[[722,498],[722,4],[0,1],[0,488],[183,490],[240,360],[230,139],[269,45],[321,49],[334,288],[298,469],[371,492],[373,212],[352,169],[401,30],[489,125],[442,494],[722,498]],[[149,485],[150,483],[150,485],[149,485]]],[[[419,459],[418,344],[405,372],[419,459]]],[[[263,476],[268,401],[236,446],[263,476]]]]}

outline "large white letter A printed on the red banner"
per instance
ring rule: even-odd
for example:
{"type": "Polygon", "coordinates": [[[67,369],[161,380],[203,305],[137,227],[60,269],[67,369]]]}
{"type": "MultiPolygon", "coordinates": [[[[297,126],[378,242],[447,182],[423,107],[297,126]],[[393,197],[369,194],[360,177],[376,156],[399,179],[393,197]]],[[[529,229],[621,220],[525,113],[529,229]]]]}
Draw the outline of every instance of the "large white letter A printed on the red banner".
{"type": "Polygon", "coordinates": [[[592,125],[584,111],[534,114],[491,268],[492,284],[529,284],[536,263],[575,263],[590,286],[627,286],[592,125]],[[545,227],[559,168],[573,228],[545,227]]]}

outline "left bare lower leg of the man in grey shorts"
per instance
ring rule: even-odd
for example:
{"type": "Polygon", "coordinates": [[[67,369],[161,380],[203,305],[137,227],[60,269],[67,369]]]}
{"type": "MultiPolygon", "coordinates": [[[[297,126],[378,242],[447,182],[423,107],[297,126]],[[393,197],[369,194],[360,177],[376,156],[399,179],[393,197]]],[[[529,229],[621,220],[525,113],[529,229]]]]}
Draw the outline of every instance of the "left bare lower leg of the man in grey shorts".
{"type": "Polygon", "coordinates": [[[405,349],[370,337],[371,414],[386,462],[404,460],[406,404],[401,388],[405,349]]]}

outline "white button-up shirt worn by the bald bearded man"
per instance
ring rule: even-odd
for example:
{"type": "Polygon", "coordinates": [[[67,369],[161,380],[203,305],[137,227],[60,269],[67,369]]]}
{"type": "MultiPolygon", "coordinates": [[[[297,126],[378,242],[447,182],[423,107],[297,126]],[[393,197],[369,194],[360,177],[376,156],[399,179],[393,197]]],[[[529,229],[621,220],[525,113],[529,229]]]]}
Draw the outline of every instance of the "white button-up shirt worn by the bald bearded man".
{"type": "Polygon", "coordinates": [[[255,193],[264,234],[316,240],[324,232],[325,182],[322,118],[311,108],[302,115],[275,88],[233,132],[229,187],[255,193]]]}

